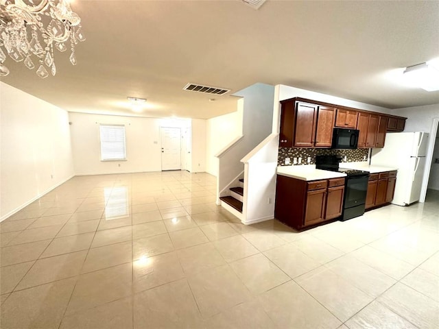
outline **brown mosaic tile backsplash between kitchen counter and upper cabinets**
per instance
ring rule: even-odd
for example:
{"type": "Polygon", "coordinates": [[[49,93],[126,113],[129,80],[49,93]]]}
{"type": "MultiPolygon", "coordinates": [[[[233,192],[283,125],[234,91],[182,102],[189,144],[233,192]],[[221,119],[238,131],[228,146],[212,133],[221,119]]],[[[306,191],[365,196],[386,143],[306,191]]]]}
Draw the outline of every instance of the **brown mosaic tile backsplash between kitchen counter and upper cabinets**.
{"type": "Polygon", "coordinates": [[[333,155],[346,156],[346,161],[342,162],[357,162],[364,161],[364,157],[368,158],[369,149],[316,149],[304,147],[279,147],[279,154],[277,158],[278,166],[292,166],[293,158],[302,158],[301,164],[315,164],[316,156],[333,155]],[[307,162],[308,157],[311,162],[307,162]],[[285,164],[285,158],[290,158],[290,164],[285,164]]]}

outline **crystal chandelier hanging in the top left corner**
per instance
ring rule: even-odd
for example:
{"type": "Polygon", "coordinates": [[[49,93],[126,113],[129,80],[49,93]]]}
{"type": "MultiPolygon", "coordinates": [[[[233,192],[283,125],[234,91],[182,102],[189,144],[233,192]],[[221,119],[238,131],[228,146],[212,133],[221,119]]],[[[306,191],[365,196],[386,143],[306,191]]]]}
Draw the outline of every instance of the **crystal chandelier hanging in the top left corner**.
{"type": "Polygon", "coordinates": [[[6,54],[29,70],[37,65],[38,77],[47,77],[47,69],[56,75],[54,47],[66,51],[69,41],[69,59],[76,65],[75,45],[85,40],[80,23],[69,0],[0,0],[0,76],[10,72],[3,64],[6,54]]]}

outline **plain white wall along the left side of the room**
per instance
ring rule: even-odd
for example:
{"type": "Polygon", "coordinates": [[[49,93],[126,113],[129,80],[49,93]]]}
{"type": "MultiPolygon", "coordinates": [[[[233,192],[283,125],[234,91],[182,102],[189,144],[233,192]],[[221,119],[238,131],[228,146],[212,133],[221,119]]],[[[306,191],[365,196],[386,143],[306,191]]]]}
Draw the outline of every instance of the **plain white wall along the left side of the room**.
{"type": "Polygon", "coordinates": [[[0,218],[74,175],[66,111],[0,82],[0,218]]]}

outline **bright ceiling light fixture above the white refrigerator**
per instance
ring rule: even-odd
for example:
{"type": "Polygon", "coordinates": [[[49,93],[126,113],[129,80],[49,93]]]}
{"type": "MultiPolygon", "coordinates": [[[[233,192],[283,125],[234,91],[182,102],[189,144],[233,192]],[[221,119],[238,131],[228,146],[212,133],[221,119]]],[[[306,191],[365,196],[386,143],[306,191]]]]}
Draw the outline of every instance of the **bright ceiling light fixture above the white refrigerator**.
{"type": "Polygon", "coordinates": [[[439,71],[428,63],[407,66],[404,71],[405,80],[412,86],[427,91],[439,90],[439,71]]]}

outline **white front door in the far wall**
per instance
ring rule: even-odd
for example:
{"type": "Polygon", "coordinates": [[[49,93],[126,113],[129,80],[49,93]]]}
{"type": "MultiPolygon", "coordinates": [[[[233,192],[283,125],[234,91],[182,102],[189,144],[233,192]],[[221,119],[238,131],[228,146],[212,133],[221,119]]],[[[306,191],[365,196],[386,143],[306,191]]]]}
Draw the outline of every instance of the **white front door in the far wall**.
{"type": "Polygon", "coordinates": [[[181,169],[181,129],[161,127],[162,170],[181,169]]]}

